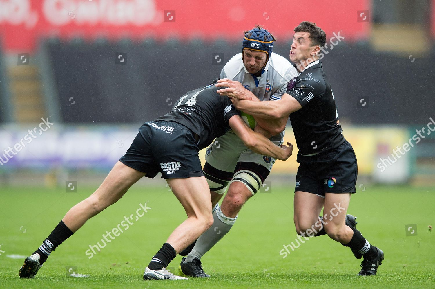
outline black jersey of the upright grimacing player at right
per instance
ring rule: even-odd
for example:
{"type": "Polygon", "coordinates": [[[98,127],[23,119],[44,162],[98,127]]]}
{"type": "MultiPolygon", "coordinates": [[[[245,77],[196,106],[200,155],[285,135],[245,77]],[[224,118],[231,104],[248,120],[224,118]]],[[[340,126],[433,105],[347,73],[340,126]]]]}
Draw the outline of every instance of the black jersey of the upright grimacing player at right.
{"type": "Polygon", "coordinates": [[[301,109],[290,114],[300,154],[327,151],[345,141],[331,84],[319,60],[310,63],[292,79],[286,93],[302,105],[301,109]]]}

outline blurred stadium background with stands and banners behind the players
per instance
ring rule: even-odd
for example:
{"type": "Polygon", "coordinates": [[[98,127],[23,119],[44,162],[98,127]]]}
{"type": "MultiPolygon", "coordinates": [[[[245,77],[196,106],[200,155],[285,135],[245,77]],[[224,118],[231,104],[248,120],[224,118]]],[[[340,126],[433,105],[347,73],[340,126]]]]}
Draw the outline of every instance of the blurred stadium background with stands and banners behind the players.
{"type": "MultiPolygon", "coordinates": [[[[435,0],[298,3],[0,0],[0,190],[99,183],[143,122],[219,76],[244,30],[264,25],[288,58],[303,20],[327,33],[321,61],[360,183],[435,184],[435,0]],[[39,135],[41,118],[54,125],[39,135]]],[[[270,179],[292,187],[297,165],[277,161],[270,179]]]]}

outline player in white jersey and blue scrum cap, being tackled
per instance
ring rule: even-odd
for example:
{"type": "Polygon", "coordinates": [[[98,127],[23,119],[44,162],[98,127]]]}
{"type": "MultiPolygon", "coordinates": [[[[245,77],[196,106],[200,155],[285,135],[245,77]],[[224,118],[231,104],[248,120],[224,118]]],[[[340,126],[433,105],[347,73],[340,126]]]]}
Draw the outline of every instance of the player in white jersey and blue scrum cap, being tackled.
{"type": "MultiPolygon", "coordinates": [[[[245,31],[242,53],[224,66],[220,78],[240,82],[244,91],[261,101],[281,99],[288,80],[298,73],[287,59],[272,53],[274,40],[274,36],[261,26],[245,31]]],[[[243,112],[241,116],[252,129],[271,137],[275,144],[282,144],[287,117],[254,119],[243,112]]],[[[181,261],[180,273],[194,277],[209,277],[202,269],[201,256],[228,233],[241,207],[260,189],[275,161],[270,156],[251,151],[231,130],[216,138],[207,149],[205,160],[203,170],[210,187],[214,224],[196,243],[180,252],[182,256],[188,254],[181,261]],[[228,192],[218,207],[228,183],[228,192]]]]}

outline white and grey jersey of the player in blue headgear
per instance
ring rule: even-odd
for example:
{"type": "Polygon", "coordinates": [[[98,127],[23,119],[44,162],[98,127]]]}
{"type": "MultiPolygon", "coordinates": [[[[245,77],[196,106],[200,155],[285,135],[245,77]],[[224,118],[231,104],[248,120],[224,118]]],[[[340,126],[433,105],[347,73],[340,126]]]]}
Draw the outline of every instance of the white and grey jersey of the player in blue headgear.
{"type": "MultiPolygon", "coordinates": [[[[287,83],[297,75],[296,68],[287,59],[272,52],[261,76],[254,76],[246,70],[242,53],[238,53],[225,64],[220,78],[236,80],[257,96],[258,99],[266,101],[281,99],[282,95],[287,91],[287,83]]],[[[242,117],[253,128],[252,123],[249,122],[246,116],[247,114],[242,113],[242,117]]],[[[272,137],[271,140],[279,141],[283,136],[284,134],[281,133],[281,136],[277,135],[272,137]]]]}

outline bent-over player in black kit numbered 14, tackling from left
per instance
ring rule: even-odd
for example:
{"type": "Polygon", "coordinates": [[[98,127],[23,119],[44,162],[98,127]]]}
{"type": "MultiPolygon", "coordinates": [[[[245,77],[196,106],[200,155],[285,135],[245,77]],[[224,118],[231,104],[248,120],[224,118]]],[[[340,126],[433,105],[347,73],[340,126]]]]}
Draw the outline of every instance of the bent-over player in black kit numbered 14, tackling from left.
{"type": "MultiPolygon", "coordinates": [[[[72,207],[42,245],[27,257],[20,277],[33,278],[50,253],[88,219],[117,202],[141,177],[154,178],[161,172],[183,205],[187,220],[171,233],[154,255],[145,268],[144,279],[187,279],[173,275],[166,267],[178,252],[214,222],[209,188],[198,152],[230,128],[258,154],[287,160],[293,150],[289,143],[289,146],[278,146],[251,130],[231,101],[219,96],[217,90],[214,85],[208,85],[187,92],[171,112],[144,123],[103,184],[90,197],[72,207]]],[[[142,209],[146,210],[146,207],[142,209]]],[[[126,217],[126,221],[130,220],[126,217]]]]}

